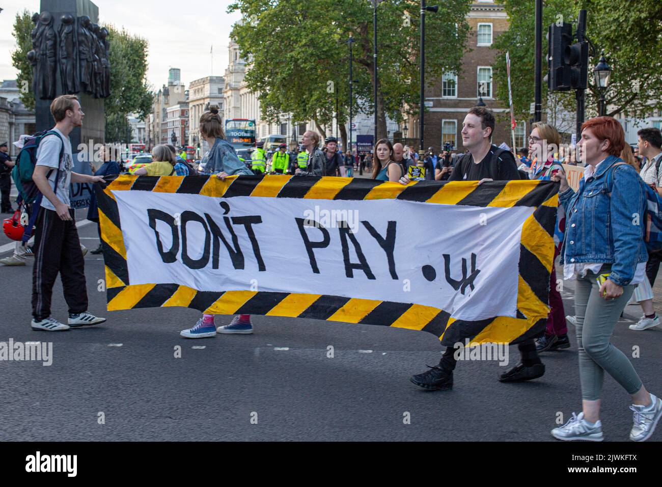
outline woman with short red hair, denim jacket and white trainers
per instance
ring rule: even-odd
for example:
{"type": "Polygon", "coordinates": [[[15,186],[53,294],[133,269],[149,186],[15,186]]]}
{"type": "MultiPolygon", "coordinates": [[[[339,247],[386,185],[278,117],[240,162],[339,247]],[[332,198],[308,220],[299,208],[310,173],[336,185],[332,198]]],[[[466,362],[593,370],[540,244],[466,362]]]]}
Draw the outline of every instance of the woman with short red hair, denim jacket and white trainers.
{"type": "Polygon", "coordinates": [[[582,125],[577,142],[587,164],[575,193],[560,170],[559,198],[567,215],[561,248],[563,277],[576,280],[575,315],[582,412],[551,430],[561,440],[602,441],[600,395],[604,372],[632,396],[630,439],[644,441],[662,416],[662,400],[649,394],[628,357],[609,341],[634,285],[645,278],[643,182],[619,155],[625,146],[620,123],[597,117],[582,125]]]}

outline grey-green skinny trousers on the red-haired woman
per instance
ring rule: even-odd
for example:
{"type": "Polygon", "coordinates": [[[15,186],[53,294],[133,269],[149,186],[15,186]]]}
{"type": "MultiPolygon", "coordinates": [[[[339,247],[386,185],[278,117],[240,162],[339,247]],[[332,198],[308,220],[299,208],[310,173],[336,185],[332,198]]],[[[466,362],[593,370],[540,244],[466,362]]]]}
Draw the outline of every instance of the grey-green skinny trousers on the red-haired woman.
{"type": "MultiPolygon", "coordinates": [[[[600,274],[608,274],[610,267],[602,266],[600,274]]],[[[605,370],[628,394],[636,393],[642,386],[628,357],[609,342],[634,286],[624,286],[620,298],[605,300],[600,297],[597,277],[598,274],[587,272],[585,277],[577,278],[575,289],[579,379],[585,401],[600,399],[605,370]]]]}

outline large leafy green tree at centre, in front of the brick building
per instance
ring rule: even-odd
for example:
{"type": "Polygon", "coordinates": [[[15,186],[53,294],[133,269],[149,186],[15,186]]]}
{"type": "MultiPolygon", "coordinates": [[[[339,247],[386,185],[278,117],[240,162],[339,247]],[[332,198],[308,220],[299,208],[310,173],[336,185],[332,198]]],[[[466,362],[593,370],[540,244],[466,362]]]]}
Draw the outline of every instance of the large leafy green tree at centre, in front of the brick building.
{"type": "MultiPolygon", "coordinates": [[[[387,136],[386,116],[418,112],[419,4],[389,0],[378,7],[377,136],[387,136]]],[[[447,0],[426,17],[426,80],[461,67],[469,25],[469,0],[447,0]]],[[[365,0],[238,0],[228,12],[242,21],[231,36],[250,70],[246,83],[260,93],[263,117],[312,119],[318,129],[332,123],[339,100],[339,123],[349,114],[350,32],[354,35],[354,107],[373,114],[373,9],[365,0]]],[[[322,131],[324,133],[324,131],[322,131]]]]}

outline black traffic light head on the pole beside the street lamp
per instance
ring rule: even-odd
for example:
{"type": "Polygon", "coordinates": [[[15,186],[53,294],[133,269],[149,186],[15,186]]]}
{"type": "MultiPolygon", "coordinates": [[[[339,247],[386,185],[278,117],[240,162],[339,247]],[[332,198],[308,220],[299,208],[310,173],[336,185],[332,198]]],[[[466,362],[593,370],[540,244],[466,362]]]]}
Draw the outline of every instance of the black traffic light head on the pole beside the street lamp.
{"type": "Polygon", "coordinates": [[[587,89],[589,67],[589,42],[583,32],[576,33],[581,42],[573,42],[571,24],[551,24],[547,32],[549,50],[547,51],[547,87],[550,91],[569,91],[587,89]]]}

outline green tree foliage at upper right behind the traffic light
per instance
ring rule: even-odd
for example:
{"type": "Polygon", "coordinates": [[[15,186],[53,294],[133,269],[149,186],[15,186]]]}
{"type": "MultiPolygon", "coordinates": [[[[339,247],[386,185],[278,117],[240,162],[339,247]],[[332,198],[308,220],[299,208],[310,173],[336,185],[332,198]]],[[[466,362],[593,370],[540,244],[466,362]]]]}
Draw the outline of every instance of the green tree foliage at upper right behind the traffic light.
{"type": "MultiPolygon", "coordinates": [[[[504,0],[510,27],[495,40],[499,62],[495,66],[496,97],[508,105],[506,51],[510,52],[512,98],[515,116],[528,118],[534,101],[535,3],[530,0],[504,0]]],[[[612,68],[610,85],[605,93],[607,115],[650,113],[662,109],[662,3],[641,0],[632,8],[628,2],[614,0],[545,0],[543,10],[543,76],[547,74],[547,28],[551,23],[574,23],[579,9],[587,9],[587,37],[591,40],[589,55],[589,89],[585,93],[586,115],[597,114],[600,93],[592,69],[600,52],[612,68]]],[[[552,112],[559,107],[575,111],[574,91],[548,93],[542,82],[543,105],[552,112]]],[[[571,129],[573,132],[574,129],[571,129]]]]}

